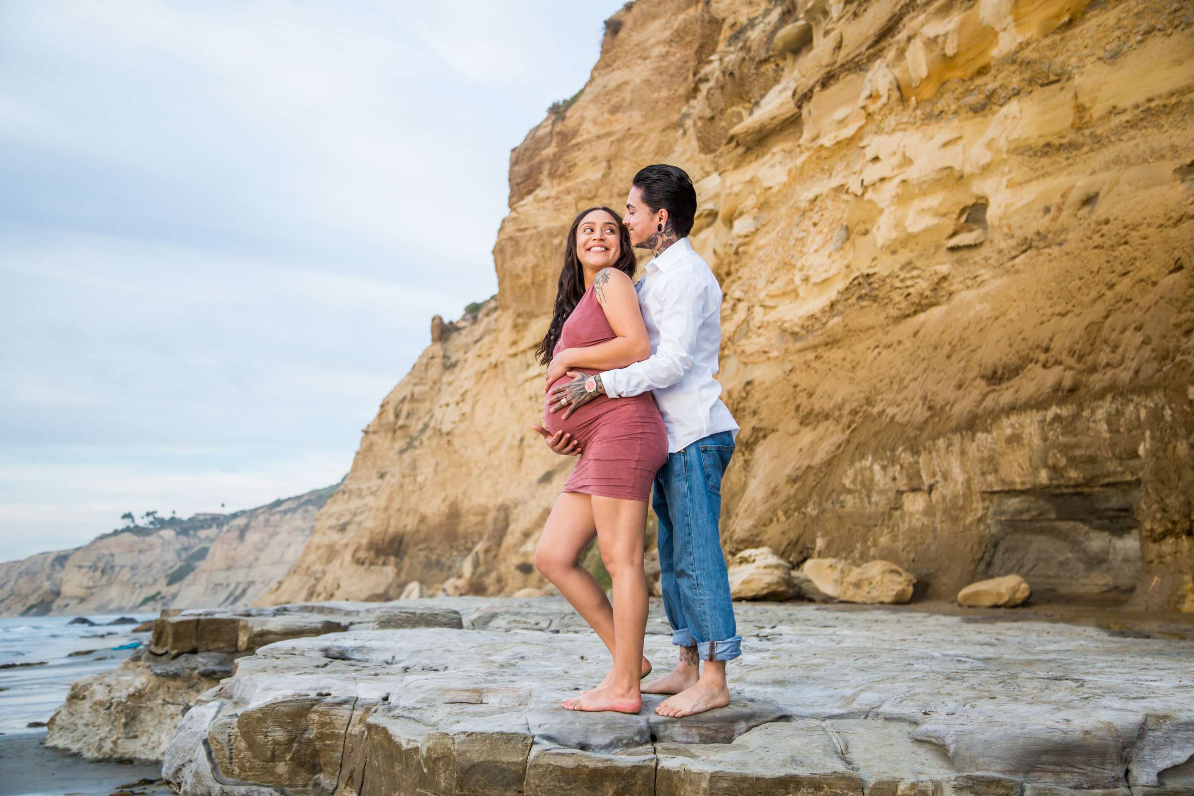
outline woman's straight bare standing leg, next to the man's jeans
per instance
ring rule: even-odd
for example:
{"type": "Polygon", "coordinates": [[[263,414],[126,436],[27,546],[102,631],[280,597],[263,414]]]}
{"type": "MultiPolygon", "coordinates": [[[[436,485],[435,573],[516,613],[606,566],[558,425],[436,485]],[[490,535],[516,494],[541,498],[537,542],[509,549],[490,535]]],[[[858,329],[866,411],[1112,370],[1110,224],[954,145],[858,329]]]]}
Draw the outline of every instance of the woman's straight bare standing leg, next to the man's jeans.
{"type": "Polygon", "coordinates": [[[647,504],[593,495],[591,507],[601,557],[614,581],[614,677],[609,685],[567,701],[564,706],[639,712],[642,638],[647,628],[647,578],[642,572],[647,504]]]}

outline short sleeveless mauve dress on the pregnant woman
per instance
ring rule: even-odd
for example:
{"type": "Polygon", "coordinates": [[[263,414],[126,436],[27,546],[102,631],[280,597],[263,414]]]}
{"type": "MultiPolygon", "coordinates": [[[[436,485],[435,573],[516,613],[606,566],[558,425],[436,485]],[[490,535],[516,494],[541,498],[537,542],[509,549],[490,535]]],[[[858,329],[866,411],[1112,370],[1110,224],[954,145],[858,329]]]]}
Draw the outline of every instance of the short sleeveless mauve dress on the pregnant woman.
{"type": "MultiPolygon", "coordinates": [[[[615,337],[605,320],[605,310],[590,288],[564,322],[552,354],[564,348],[598,345],[615,337]]],[[[601,372],[584,368],[573,370],[590,375],[601,372]]],[[[552,388],[568,381],[567,376],[561,376],[552,388]]],[[[549,395],[543,425],[552,433],[562,431],[580,442],[580,461],[564,490],[646,501],[656,470],[667,461],[667,431],[654,396],[651,393],[617,399],[598,395],[567,420],[562,418],[568,408],[550,412],[552,403],[549,395]]]]}

